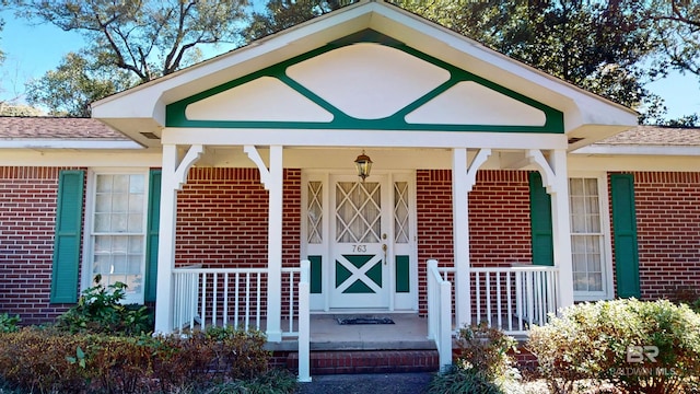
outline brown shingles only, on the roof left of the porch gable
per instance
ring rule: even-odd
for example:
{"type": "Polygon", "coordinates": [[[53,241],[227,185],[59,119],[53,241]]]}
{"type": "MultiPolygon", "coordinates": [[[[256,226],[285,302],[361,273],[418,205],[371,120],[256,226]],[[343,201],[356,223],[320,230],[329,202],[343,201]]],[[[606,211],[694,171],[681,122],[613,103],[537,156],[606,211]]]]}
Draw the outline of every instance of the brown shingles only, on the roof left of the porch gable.
{"type": "Polygon", "coordinates": [[[0,116],[2,140],[108,140],[130,139],[93,118],[0,116]]]}

